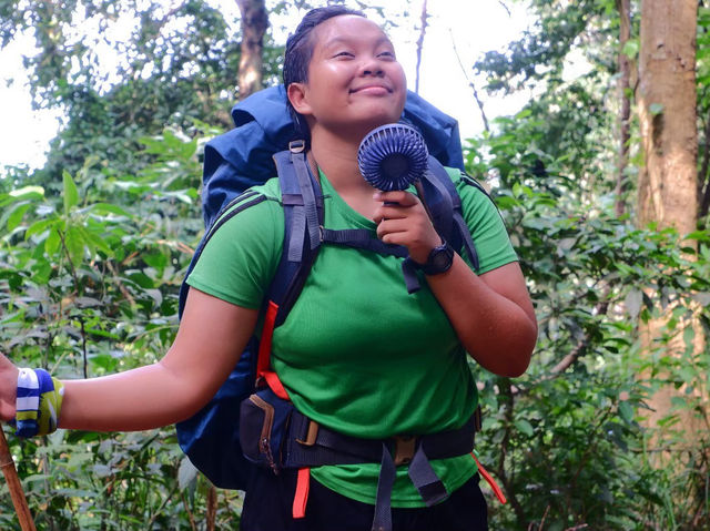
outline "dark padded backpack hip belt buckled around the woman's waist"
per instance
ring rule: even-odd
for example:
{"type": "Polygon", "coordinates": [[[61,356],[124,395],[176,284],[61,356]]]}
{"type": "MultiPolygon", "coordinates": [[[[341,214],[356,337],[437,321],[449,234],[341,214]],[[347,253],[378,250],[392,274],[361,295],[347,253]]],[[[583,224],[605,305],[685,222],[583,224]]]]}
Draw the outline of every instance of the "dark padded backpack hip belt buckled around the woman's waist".
{"type": "Polygon", "coordinates": [[[458,429],[424,436],[400,435],[387,439],[364,439],[325,428],[266,387],[241,405],[240,439],[244,456],[278,474],[297,469],[294,518],[305,515],[312,467],[379,462],[373,530],[392,529],[392,488],[396,467],[408,464],[408,476],[432,507],[448,497],[429,459],[466,456],[474,450],[479,410],[458,429]]]}

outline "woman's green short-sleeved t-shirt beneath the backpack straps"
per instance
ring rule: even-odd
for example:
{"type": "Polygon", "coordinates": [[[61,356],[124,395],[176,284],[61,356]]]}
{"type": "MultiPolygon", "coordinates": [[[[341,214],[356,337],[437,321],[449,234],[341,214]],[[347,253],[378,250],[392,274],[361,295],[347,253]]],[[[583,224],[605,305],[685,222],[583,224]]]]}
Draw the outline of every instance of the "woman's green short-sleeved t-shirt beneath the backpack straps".
{"type": "MultiPolygon", "coordinates": [[[[450,170],[481,274],[517,259],[488,197],[450,170]]],[[[324,226],[376,225],[351,208],[321,174],[324,226]]],[[[277,180],[254,188],[267,201],[224,223],[187,283],[207,294],[260,308],[281,258],[284,216],[277,180]]],[[[239,206],[235,206],[239,207],[239,206]]],[[[274,330],[272,366],[304,415],[336,431],[372,439],[458,428],[478,396],[468,358],[424,277],[407,293],[402,258],[324,245],[285,323],[274,330]]],[[[469,456],[432,462],[453,492],[475,472],[469,456]]],[[[314,479],[365,503],[375,502],[379,463],[320,467],[314,479]]],[[[398,467],[393,507],[424,507],[398,467]]]]}

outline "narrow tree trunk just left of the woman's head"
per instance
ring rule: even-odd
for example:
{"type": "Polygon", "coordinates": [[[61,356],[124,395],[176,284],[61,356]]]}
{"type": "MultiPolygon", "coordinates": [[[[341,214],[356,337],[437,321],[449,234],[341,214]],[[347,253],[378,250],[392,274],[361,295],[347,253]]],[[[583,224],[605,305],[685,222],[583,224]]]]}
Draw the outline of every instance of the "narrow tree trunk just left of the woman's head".
{"type": "Polygon", "coordinates": [[[264,33],[268,12],[264,0],[236,0],[242,13],[242,47],[239,73],[240,99],[262,89],[264,33]]]}

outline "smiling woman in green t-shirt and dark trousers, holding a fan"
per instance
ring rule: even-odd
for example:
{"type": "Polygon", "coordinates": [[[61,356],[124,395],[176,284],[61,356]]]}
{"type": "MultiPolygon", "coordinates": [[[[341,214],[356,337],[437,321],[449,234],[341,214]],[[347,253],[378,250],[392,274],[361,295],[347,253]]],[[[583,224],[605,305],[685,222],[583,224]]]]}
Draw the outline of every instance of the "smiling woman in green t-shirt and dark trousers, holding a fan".
{"type": "MultiPolygon", "coordinates": [[[[371,229],[426,265],[446,243],[418,197],[374,190],[356,161],[363,137],[397,122],[404,108],[405,75],[387,35],[359,12],[313,10],[286,44],[284,83],[310,136],[325,225],[371,229]]],[[[426,285],[409,295],[398,258],[326,246],[274,333],[273,368],[296,409],[320,425],[376,440],[457,429],[477,406],[466,353],[498,375],[526,370],[537,325],[516,255],[490,201],[450,173],[479,254],[477,270],[454,253],[438,270],[425,269],[426,285]]],[[[166,355],[126,372],[63,381],[60,428],[155,428],[192,416],[215,394],[257,326],[282,253],[277,182],[256,190],[270,201],[235,215],[205,247],[166,355]]],[[[0,357],[3,420],[16,416],[18,377],[0,357]]],[[[432,467],[446,499],[427,508],[407,466],[398,467],[393,529],[487,529],[470,456],[432,460],[432,467]]],[[[306,515],[293,519],[295,471],[260,470],[247,489],[242,529],[368,530],[378,477],[374,462],[314,468],[306,515]]]]}

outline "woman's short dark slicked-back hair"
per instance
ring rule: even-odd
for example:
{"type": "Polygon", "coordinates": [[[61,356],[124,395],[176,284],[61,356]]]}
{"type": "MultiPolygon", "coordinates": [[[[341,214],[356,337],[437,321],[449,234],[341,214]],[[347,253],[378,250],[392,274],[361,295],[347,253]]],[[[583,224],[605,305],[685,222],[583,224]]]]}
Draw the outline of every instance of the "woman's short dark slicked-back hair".
{"type": "MultiPolygon", "coordinates": [[[[308,81],[308,64],[313,58],[313,49],[315,43],[311,38],[313,30],[321,23],[325,22],[333,17],[339,17],[342,14],[354,14],[357,17],[365,17],[365,13],[355,9],[346,8],[345,6],[328,6],[325,8],[316,8],[308,11],[296,30],[288,35],[286,40],[286,51],[284,52],[284,86],[286,91],[291,83],[306,83],[308,81]]],[[[311,139],[311,132],[305,119],[296,112],[291,104],[288,98],[286,98],[286,106],[291,113],[291,118],[296,125],[296,131],[306,141],[311,139]]]]}

